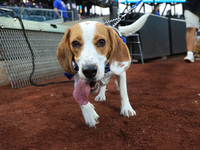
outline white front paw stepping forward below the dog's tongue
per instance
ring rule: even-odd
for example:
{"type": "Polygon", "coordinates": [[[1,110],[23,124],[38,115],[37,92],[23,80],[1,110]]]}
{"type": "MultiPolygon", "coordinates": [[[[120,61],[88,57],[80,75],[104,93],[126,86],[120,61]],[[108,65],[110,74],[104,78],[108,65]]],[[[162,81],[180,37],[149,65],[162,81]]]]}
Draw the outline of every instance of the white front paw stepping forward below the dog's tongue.
{"type": "Polygon", "coordinates": [[[89,127],[95,127],[98,124],[99,115],[94,110],[94,106],[88,102],[86,105],[80,105],[85,123],[89,127]]]}

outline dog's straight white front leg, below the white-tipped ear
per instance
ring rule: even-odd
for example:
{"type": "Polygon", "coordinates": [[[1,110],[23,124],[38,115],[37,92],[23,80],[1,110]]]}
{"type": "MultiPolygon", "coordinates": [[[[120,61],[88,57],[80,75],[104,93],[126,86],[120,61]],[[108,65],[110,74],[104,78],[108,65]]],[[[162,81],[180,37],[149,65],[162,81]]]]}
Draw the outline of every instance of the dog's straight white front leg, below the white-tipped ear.
{"type": "Polygon", "coordinates": [[[120,115],[130,117],[136,115],[136,112],[133,110],[130,105],[128,93],[127,93],[127,83],[126,83],[126,72],[120,74],[119,78],[119,88],[120,88],[120,99],[121,99],[121,111],[120,115]]]}

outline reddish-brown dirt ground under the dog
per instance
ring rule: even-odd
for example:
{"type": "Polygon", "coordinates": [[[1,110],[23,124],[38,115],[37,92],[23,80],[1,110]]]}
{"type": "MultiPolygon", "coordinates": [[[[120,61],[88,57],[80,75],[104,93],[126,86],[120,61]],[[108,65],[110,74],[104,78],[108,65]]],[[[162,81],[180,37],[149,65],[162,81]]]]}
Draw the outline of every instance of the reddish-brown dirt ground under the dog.
{"type": "Polygon", "coordinates": [[[183,57],[131,65],[127,81],[134,117],[119,115],[114,79],[107,101],[95,102],[91,95],[100,116],[96,128],[85,125],[73,83],[1,86],[0,149],[199,150],[200,62],[185,63],[183,57]]]}

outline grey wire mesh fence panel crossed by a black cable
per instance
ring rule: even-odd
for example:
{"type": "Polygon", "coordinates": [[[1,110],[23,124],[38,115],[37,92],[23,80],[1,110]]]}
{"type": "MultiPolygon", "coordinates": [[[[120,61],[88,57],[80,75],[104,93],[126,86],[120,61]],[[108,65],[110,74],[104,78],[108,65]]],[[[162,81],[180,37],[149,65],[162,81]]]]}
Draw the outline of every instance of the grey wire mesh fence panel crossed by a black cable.
{"type": "MultiPolygon", "coordinates": [[[[26,31],[35,56],[35,83],[62,76],[64,71],[56,57],[63,33],[26,31]]],[[[32,56],[22,30],[0,29],[0,61],[12,88],[30,85],[32,56]]]]}

